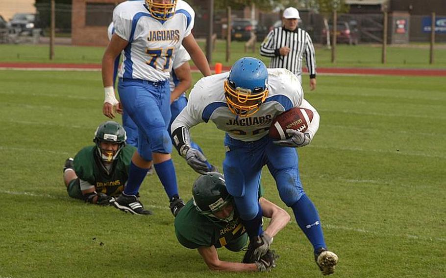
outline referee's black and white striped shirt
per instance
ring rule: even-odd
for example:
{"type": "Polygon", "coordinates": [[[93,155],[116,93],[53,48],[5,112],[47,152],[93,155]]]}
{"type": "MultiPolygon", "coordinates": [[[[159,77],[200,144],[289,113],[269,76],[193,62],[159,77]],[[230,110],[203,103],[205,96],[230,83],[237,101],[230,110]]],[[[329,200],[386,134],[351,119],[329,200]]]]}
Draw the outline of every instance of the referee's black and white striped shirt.
{"type": "Polygon", "coordinates": [[[310,73],[310,78],[316,77],[316,58],[313,42],[305,30],[296,28],[290,31],[276,27],[270,31],[260,46],[260,55],[271,57],[270,68],[285,68],[297,76],[302,74],[302,57],[310,73]],[[286,56],[279,54],[279,48],[288,46],[290,52],[286,56]]]}

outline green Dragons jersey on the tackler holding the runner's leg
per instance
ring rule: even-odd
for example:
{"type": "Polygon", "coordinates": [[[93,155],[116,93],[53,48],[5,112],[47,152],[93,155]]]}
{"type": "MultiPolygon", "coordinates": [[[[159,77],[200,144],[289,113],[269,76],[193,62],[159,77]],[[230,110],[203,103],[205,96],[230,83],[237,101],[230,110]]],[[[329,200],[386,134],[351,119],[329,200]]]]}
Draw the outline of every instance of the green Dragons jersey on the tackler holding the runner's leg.
{"type": "MultiPolygon", "coordinates": [[[[213,219],[214,220],[214,219],[213,219]]],[[[248,234],[237,211],[232,221],[213,221],[200,214],[193,200],[187,202],[175,217],[175,234],[184,247],[195,249],[201,246],[226,247],[240,251],[248,242],[248,234]]]]}

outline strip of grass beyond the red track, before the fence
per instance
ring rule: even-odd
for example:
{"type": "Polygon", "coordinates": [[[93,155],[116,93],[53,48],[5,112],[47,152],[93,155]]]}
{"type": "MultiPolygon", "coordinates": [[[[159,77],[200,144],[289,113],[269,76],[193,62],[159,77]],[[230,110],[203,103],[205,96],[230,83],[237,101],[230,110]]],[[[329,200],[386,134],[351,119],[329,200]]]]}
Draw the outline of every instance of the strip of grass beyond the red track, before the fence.
{"type": "MultiPolygon", "coordinates": [[[[200,43],[204,50],[204,44],[200,43]]],[[[245,52],[243,42],[232,42],[231,59],[225,62],[226,48],[224,41],[218,41],[212,53],[212,65],[221,62],[225,66],[232,65],[243,56],[253,56],[269,63],[268,57],[256,51],[245,52]]],[[[445,44],[438,44],[435,49],[435,63],[429,65],[429,46],[388,46],[387,64],[381,64],[381,47],[375,45],[337,46],[337,62],[331,63],[331,50],[326,47],[316,47],[316,62],[318,67],[373,67],[373,68],[446,68],[445,44]]],[[[49,60],[49,46],[46,45],[0,45],[0,61],[2,62],[41,62],[41,63],[100,63],[104,47],[87,46],[55,46],[54,60],[49,60]]]]}

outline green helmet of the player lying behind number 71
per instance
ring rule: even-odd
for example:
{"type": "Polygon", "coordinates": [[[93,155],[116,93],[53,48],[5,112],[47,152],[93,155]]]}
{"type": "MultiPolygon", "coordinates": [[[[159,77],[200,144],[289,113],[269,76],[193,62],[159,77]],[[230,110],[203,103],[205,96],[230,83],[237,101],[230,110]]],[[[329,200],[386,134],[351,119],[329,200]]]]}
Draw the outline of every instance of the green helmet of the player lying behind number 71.
{"type": "Polygon", "coordinates": [[[105,162],[112,162],[116,159],[119,152],[124,148],[126,139],[127,135],[122,125],[115,121],[106,121],[99,124],[98,128],[96,129],[93,142],[95,142],[96,144],[99,157],[105,162]],[[118,144],[118,150],[104,150],[100,146],[101,142],[118,144]]]}

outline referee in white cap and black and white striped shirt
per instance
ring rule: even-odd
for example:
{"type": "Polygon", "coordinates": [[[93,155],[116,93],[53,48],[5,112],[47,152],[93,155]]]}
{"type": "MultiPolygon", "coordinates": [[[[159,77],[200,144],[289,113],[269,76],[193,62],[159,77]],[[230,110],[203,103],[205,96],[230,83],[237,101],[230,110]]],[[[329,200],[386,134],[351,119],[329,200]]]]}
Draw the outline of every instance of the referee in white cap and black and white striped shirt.
{"type": "Polygon", "coordinates": [[[300,19],[296,8],[283,11],[282,26],[270,31],[260,46],[260,55],[271,57],[270,68],[285,68],[302,83],[302,58],[310,73],[310,89],[316,89],[316,59],[313,42],[305,30],[297,27],[300,19]]]}

